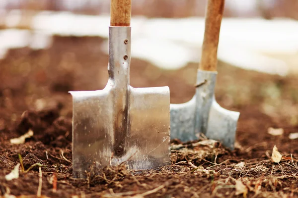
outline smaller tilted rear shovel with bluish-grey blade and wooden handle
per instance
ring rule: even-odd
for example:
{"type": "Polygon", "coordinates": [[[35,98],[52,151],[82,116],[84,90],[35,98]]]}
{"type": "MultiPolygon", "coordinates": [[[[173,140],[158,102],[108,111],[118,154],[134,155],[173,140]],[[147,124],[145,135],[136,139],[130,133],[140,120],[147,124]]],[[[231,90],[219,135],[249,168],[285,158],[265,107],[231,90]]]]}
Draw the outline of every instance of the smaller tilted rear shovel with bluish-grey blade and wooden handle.
{"type": "Polygon", "coordinates": [[[192,141],[203,133],[207,138],[217,140],[225,147],[233,149],[240,113],[224,109],[214,96],[223,12],[224,0],[208,0],[196,94],[186,103],[170,104],[171,138],[192,141]]]}

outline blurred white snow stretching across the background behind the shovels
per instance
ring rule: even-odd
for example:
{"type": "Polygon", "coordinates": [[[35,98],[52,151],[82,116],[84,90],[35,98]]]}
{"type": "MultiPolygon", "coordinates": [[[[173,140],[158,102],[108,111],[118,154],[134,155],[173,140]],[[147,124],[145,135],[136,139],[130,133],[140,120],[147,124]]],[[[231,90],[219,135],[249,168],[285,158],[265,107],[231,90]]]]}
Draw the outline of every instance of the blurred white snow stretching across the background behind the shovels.
{"type": "MultiPolygon", "coordinates": [[[[7,25],[14,26],[19,16],[17,10],[10,12],[5,19],[7,25]]],[[[109,25],[109,15],[41,11],[31,21],[33,33],[0,31],[0,56],[9,48],[46,48],[51,44],[52,35],[108,38],[109,25]]],[[[148,19],[138,16],[132,18],[131,26],[132,57],[148,60],[165,69],[178,69],[190,61],[199,62],[204,17],[148,19]]],[[[218,56],[236,67],[284,76],[289,73],[289,65],[263,54],[297,54],[297,35],[298,22],[290,19],[224,18],[218,56]]],[[[107,43],[103,46],[103,51],[107,52],[107,43]]]]}

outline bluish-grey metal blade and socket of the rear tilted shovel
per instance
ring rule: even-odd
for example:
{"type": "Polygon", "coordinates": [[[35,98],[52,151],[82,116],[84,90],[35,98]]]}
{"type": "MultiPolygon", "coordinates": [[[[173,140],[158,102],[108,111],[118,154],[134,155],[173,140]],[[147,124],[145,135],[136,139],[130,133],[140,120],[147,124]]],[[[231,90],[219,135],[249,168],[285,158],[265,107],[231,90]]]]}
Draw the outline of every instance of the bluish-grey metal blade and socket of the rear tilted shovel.
{"type": "Polygon", "coordinates": [[[217,72],[198,70],[195,96],[182,104],[170,104],[171,138],[192,141],[207,138],[234,149],[240,113],[221,107],[214,97],[217,72]]]}

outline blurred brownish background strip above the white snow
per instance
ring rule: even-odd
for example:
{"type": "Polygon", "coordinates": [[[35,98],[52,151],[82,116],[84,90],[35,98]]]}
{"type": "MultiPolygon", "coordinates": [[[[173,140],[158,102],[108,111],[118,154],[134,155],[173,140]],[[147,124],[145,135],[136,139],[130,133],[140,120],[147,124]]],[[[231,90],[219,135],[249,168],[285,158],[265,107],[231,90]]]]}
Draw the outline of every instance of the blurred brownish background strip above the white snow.
{"type": "MultiPolygon", "coordinates": [[[[204,16],[206,0],[132,0],[133,15],[148,17],[204,16]],[[156,9],[156,7],[163,9],[156,9]]],[[[109,13],[109,0],[1,0],[1,9],[72,11],[84,14],[109,13]]],[[[226,0],[225,16],[298,19],[297,0],[226,0]]]]}

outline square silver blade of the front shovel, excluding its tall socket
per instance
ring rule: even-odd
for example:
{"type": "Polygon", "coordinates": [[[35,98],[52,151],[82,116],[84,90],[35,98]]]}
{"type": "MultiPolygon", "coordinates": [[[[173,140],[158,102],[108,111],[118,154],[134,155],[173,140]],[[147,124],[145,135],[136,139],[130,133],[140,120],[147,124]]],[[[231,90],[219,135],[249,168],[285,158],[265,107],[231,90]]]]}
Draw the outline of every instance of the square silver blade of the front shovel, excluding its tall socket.
{"type": "Polygon", "coordinates": [[[129,126],[115,131],[120,112],[115,112],[113,88],[71,92],[73,110],[73,172],[84,178],[96,167],[126,162],[129,169],[151,169],[169,163],[169,89],[129,88],[129,126]],[[120,144],[123,143],[123,144],[120,144]],[[119,145],[123,153],[117,154],[119,145]],[[122,147],[122,146],[121,146],[122,147]],[[113,153],[113,154],[112,154],[113,153]]]}

